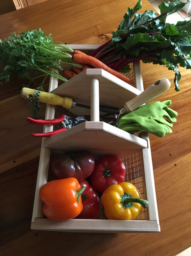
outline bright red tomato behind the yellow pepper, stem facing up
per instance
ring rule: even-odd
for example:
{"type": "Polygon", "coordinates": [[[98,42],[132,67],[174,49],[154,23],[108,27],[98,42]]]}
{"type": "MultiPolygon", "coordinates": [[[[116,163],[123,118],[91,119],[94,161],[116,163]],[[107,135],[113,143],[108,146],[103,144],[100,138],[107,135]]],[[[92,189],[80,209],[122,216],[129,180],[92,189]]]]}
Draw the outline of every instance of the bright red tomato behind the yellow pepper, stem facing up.
{"type": "Polygon", "coordinates": [[[95,163],[90,176],[91,184],[96,190],[103,193],[109,186],[124,182],[125,175],[126,167],[117,156],[102,156],[95,163]]]}

